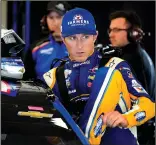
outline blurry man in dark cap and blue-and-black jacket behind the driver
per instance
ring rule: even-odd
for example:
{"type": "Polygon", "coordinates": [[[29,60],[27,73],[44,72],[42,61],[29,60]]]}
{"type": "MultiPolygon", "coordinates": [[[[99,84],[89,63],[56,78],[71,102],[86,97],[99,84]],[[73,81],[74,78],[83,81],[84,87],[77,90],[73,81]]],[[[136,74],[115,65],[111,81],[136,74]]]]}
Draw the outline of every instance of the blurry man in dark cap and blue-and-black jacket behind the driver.
{"type": "Polygon", "coordinates": [[[46,14],[41,20],[42,33],[46,37],[33,43],[24,59],[26,72],[24,78],[37,78],[47,72],[55,58],[68,56],[61,39],[61,21],[63,15],[70,9],[67,2],[51,1],[47,5],[46,14]]]}

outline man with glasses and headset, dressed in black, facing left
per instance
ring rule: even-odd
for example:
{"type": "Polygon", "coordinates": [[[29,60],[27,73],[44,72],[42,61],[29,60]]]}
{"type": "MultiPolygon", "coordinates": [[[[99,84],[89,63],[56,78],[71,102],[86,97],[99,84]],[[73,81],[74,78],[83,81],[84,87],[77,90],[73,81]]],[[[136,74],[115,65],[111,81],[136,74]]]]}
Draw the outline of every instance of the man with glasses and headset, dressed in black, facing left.
{"type": "Polygon", "coordinates": [[[118,57],[129,63],[134,71],[133,73],[135,73],[134,75],[153,97],[154,94],[149,88],[150,79],[147,78],[148,75],[146,75],[147,72],[145,71],[146,64],[143,62],[143,56],[140,53],[140,49],[143,49],[140,45],[143,31],[139,16],[134,11],[122,10],[111,13],[109,20],[108,35],[112,47],[120,49],[118,57]]]}

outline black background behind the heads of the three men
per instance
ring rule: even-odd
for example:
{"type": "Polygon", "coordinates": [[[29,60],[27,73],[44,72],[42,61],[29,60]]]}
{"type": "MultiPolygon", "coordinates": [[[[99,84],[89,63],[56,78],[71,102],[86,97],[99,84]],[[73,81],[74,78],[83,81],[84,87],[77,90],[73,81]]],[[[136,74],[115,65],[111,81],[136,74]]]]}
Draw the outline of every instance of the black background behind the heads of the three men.
{"type": "MultiPolygon", "coordinates": [[[[40,19],[45,13],[48,1],[31,1],[30,7],[30,43],[41,37],[40,19]]],[[[108,44],[107,28],[108,16],[111,12],[122,9],[130,9],[137,12],[142,20],[144,32],[150,32],[151,36],[145,36],[143,44],[146,51],[155,63],[155,1],[69,1],[71,8],[81,7],[89,10],[96,21],[99,31],[98,43],[108,44]]],[[[8,28],[12,28],[13,2],[8,1],[8,28]]],[[[17,33],[23,37],[22,27],[25,23],[25,1],[18,1],[17,33]]]]}

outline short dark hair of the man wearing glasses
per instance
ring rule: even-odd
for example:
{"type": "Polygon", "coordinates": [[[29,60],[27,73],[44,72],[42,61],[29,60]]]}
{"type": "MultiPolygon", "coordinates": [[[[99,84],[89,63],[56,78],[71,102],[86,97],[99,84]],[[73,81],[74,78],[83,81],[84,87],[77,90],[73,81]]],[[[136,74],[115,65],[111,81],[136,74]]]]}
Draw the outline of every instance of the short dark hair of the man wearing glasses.
{"type": "Polygon", "coordinates": [[[125,18],[130,23],[132,28],[141,28],[141,19],[135,11],[132,10],[120,10],[115,11],[109,15],[110,22],[116,18],[125,18]]]}

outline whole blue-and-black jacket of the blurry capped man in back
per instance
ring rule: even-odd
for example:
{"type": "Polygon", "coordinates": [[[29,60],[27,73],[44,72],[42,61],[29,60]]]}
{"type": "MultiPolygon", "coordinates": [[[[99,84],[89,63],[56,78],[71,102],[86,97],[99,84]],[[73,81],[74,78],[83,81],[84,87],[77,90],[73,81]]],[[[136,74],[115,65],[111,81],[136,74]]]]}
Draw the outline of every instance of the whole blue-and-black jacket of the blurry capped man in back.
{"type": "MultiPolygon", "coordinates": [[[[32,44],[24,61],[26,73],[24,78],[38,78],[43,80],[43,74],[51,69],[55,58],[61,59],[68,56],[63,42],[56,42],[50,34],[46,38],[32,44]]],[[[58,66],[57,63],[55,66],[58,66]]]]}

